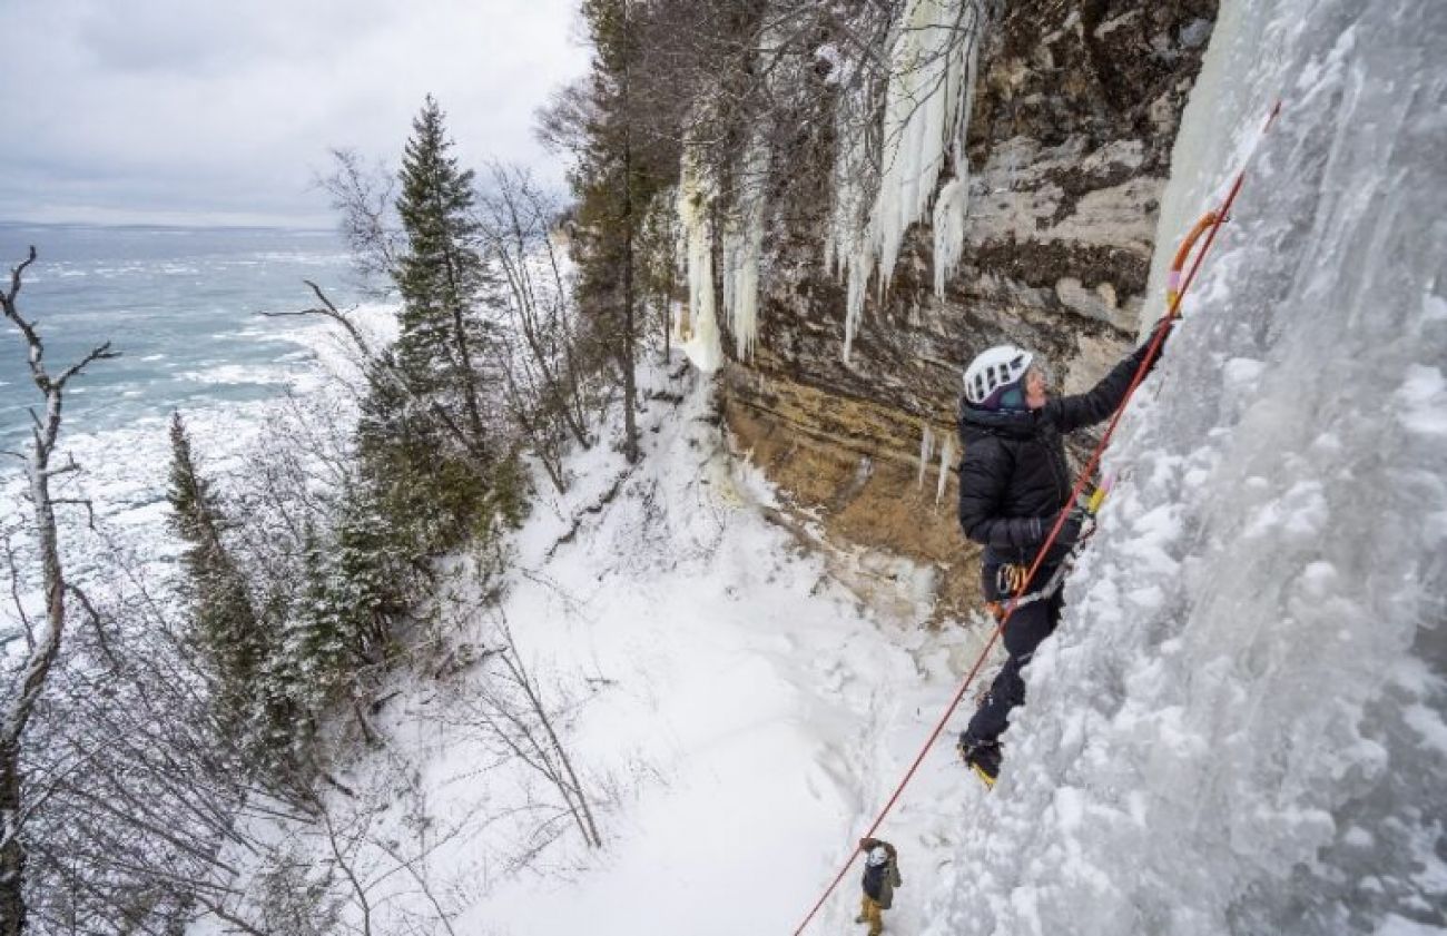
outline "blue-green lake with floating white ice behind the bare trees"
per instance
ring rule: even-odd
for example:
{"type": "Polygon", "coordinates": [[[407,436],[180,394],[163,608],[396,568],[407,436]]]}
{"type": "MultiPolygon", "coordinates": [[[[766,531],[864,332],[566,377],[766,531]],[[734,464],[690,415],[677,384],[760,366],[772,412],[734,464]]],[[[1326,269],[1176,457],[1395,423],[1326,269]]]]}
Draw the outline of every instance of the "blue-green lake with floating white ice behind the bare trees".
{"type": "MultiPolygon", "coordinates": [[[[98,587],[97,548],[119,544],[142,563],[174,554],[165,529],[171,414],[187,418],[208,475],[233,469],[278,407],[334,389],[328,378],[344,369],[334,327],[260,312],[315,305],[304,279],[343,307],[356,289],[328,231],[0,223],[7,284],[30,244],[38,259],[19,305],[45,341],[51,375],[103,341],[120,352],[69,383],[61,450],[82,470],[56,479],[59,496],[91,501],[101,521],[104,544],[80,509],[62,516],[71,571],[98,587]]],[[[389,318],[385,307],[360,315],[372,330],[389,318]]],[[[0,450],[27,447],[27,409],[39,401],[25,344],[0,321],[0,450]]],[[[23,488],[19,461],[0,459],[0,531],[22,550],[23,488]]],[[[0,605],[0,625],[9,616],[0,605]]]]}

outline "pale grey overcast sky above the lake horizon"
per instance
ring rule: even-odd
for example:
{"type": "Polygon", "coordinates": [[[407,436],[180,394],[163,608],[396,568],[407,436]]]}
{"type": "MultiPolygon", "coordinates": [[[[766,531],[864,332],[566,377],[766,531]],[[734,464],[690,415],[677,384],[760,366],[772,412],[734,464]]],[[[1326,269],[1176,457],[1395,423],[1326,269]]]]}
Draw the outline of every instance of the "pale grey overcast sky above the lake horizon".
{"type": "Polygon", "coordinates": [[[466,165],[561,184],[532,111],[577,0],[0,0],[0,220],[333,224],[328,150],[395,166],[428,93],[466,165]]]}

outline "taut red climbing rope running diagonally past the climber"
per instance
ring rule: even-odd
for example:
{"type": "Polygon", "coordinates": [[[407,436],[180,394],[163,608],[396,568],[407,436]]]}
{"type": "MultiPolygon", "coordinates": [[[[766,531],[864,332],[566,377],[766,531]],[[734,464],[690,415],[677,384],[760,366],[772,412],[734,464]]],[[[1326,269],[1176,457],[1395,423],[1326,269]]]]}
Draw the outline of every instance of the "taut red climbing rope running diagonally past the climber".
{"type": "MultiPolygon", "coordinates": [[[[1263,133],[1270,129],[1270,124],[1273,120],[1276,120],[1276,114],[1279,111],[1281,111],[1281,101],[1276,101],[1276,104],[1270,110],[1270,114],[1268,114],[1266,117],[1266,127],[1262,130],[1263,133]]],[[[878,830],[878,827],[884,823],[884,819],[890,814],[890,810],[894,809],[894,804],[904,793],[904,787],[907,787],[910,780],[915,778],[915,773],[919,770],[919,765],[925,762],[925,755],[929,754],[929,749],[935,745],[935,741],[939,738],[939,733],[945,731],[945,725],[955,715],[955,709],[959,707],[959,702],[965,697],[965,693],[969,690],[969,684],[975,680],[975,676],[984,665],[985,658],[994,648],[996,641],[998,641],[1000,635],[1004,634],[1004,625],[1010,621],[1010,615],[1014,613],[1016,606],[1020,603],[1020,596],[1024,595],[1026,590],[1030,587],[1030,582],[1035,580],[1035,573],[1039,571],[1040,566],[1045,561],[1045,556],[1051,551],[1051,547],[1055,544],[1055,538],[1059,537],[1061,528],[1065,525],[1065,519],[1069,515],[1071,508],[1075,506],[1075,502],[1079,499],[1079,495],[1085,489],[1085,485],[1090,482],[1091,476],[1094,476],[1095,467],[1100,464],[1101,457],[1106,454],[1106,447],[1110,446],[1110,440],[1116,434],[1116,427],[1120,424],[1120,418],[1121,415],[1124,415],[1126,407],[1130,404],[1130,398],[1134,395],[1136,388],[1140,386],[1142,380],[1146,379],[1146,373],[1150,372],[1152,362],[1155,362],[1156,356],[1160,353],[1162,341],[1165,341],[1166,334],[1172,328],[1172,323],[1181,314],[1181,302],[1185,299],[1185,294],[1191,289],[1191,284],[1195,282],[1197,271],[1201,269],[1201,262],[1205,259],[1205,255],[1210,253],[1211,244],[1215,243],[1217,231],[1221,230],[1221,224],[1224,224],[1230,217],[1231,205],[1236,203],[1236,195],[1242,191],[1242,182],[1244,181],[1246,181],[1246,168],[1242,166],[1242,169],[1236,174],[1236,179],[1231,182],[1231,188],[1227,191],[1226,198],[1221,201],[1221,207],[1214,213],[1215,220],[1211,223],[1211,229],[1205,236],[1205,243],[1201,244],[1200,253],[1195,255],[1195,259],[1191,263],[1191,272],[1187,273],[1185,281],[1181,284],[1181,289],[1175,294],[1171,307],[1166,310],[1165,327],[1156,330],[1155,336],[1152,337],[1150,346],[1146,349],[1146,356],[1140,360],[1140,366],[1136,367],[1136,373],[1132,376],[1130,386],[1126,388],[1126,395],[1121,398],[1120,405],[1116,407],[1116,412],[1110,418],[1110,425],[1106,427],[1106,434],[1101,435],[1100,444],[1097,444],[1095,450],[1091,453],[1090,461],[1085,464],[1079,476],[1075,479],[1075,486],[1071,489],[1071,496],[1065,501],[1065,506],[1056,516],[1055,525],[1051,527],[1051,535],[1045,538],[1045,543],[1040,545],[1040,551],[1036,553],[1035,561],[1030,564],[1029,574],[1026,574],[1024,580],[1020,582],[1019,586],[1016,586],[1014,595],[1010,596],[1009,608],[1006,608],[1004,613],[1000,616],[1000,622],[996,625],[994,632],[990,634],[990,639],[985,641],[984,650],[980,651],[980,657],[975,660],[975,664],[969,667],[969,673],[965,676],[964,683],[961,683],[959,692],[956,692],[955,697],[949,700],[949,705],[945,707],[945,713],[941,716],[939,723],[935,725],[935,731],[929,732],[929,738],[925,739],[925,744],[920,748],[919,754],[915,757],[915,761],[909,765],[909,770],[904,771],[904,777],[900,780],[899,786],[894,787],[894,793],[890,794],[888,801],[884,804],[884,809],[880,810],[880,814],[870,826],[870,830],[864,833],[864,838],[873,838],[874,833],[878,830]]],[[[794,930],[794,936],[800,936],[800,933],[805,932],[805,927],[807,927],[809,922],[813,920],[816,913],[819,913],[819,909],[823,907],[823,903],[829,900],[829,894],[832,894],[835,888],[839,887],[839,881],[842,881],[844,875],[849,872],[849,868],[854,865],[854,859],[858,856],[858,854],[860,854],[858,848],[854,848],[849,852],[849,856],[845,859],[844,867],[839,868],[839,874],[833,875],[833,881],[829,882],[829,887],[825,888],[818,903],[815,903],[813,909],[809,910],[809,914],[803,919],[803,923],[800,923],[799,929],[794,930]]]]}

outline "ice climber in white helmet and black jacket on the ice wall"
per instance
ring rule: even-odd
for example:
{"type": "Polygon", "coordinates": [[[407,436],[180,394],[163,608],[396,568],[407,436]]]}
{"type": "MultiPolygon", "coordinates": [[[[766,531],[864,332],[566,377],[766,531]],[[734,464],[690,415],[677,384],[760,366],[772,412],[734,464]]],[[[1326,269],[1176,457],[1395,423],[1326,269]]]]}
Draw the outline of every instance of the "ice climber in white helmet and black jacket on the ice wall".
{"type": "MultiPolygon", "coordinates": [[[[1116,411],[1150,344],[1147,340],[1078,396],[1051,399],[1042,363],[1013,344],[991,347],[965,367],[959,527],[985,547],[980,571],[985,600],[997,615],[1069,499],[1064,435],[1103,422],[1116,411]]],[[[1084,518],[1082,508],[1071,511],[1006,622],[1009,657],[959,736],[961,757],[987,784],[993,786],[1000,774],[1000,735],[1010,709],[1024,702],[1020,670],[1061,619],[1062,589],[1055,573],[1079,540],[1084,518]]]]}

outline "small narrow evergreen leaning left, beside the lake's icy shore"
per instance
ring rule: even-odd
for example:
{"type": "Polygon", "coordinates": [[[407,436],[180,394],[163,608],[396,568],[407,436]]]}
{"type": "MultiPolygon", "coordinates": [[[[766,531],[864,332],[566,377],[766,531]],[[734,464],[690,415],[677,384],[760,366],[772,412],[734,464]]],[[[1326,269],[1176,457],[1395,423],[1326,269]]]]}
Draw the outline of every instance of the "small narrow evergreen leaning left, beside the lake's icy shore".
{"type": "Polygon", "coordinates": [[[171,418],[171,529],[187,544],[181,554],[184,590],[191,605],[197,644],[216,680],[223,719],[252,729],[271,720],[260,678],[271,652],[265,628],[246,590],[246,580],[226,548],[227,528],[220,499],[201,477],[181,414],[171,418]]]}

